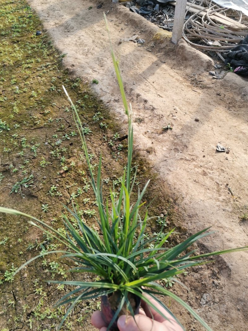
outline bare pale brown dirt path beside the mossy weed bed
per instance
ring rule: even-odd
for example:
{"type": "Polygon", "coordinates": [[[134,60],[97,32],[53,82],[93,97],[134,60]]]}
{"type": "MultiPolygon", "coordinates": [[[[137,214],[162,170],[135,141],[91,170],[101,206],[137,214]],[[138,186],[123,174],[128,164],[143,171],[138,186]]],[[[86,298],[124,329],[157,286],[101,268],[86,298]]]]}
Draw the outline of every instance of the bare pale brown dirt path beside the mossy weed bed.
{"type": "MultiPolygon", "coordinates": [[[[99,9],[99,2],[89,0],[28,2],[55,46],[67,54],[64,65],[85,80],[98,79],[96,91],[125,122],[103,21],[103,11],[109,11],[113,47],[133,107],[136,149],[177,198],[185,214],[182,225],[189,232],[210,225],[218,231],[204,239],[203,249],[247,245],[248,222],[241,220],[248,213],[247,94],[235,80],[227,87],[234,74],[227,74],[225,84],[208,72],[192,75],[201,71],[200,62],[180,64],[174,46],[161,49],[148,42],[145,20],[144,26],[134,25],[130,14],[120,17],[111,1],[99,9]],[[120,43],[134,34],[146,43],[120,43]],[[164,131],[169,123],[173,129],[164,131]],[[230,153],[217,153],[218,142],[229,146],[230,153]]],[[[193,278],[189,274],[191,292],[185,299],[214,330],[248,330],[247,268],[248,254],[241,252],[217,260],[211,271],[203,268],[193,278]]],[[[199,329],[190,324],[188,330],[199,329]]]]}

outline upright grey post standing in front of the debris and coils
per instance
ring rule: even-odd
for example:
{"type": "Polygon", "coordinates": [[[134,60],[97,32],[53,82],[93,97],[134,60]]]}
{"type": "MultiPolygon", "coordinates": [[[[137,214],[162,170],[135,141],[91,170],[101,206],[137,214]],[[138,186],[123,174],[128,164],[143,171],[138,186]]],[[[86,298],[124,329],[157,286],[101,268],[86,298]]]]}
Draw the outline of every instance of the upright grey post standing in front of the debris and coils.
{"type": "Polygon", "coordinates": [[[181,39],[184,27],[184,18],[186,13],[187,0],[177,0],[174,16],[174,24],[172,30],[171,41],[177,44],[178,40],[181,39]]]}

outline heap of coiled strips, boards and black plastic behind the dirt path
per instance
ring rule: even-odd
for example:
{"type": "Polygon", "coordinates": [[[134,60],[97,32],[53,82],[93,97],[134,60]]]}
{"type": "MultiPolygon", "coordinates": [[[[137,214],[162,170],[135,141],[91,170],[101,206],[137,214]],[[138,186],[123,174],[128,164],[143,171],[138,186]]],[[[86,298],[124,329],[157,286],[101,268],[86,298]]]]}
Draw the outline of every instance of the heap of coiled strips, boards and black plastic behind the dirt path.
{"type": "MultiPolygon", "coordinates": [[[[160,28],[172,31],[176,1],[132,0],[123,4],[160,28]]],[[[235,73],[248,74],[248,18],[241,11],[223,8],[210,0],[188,0],[183,38],[230,64],[235,73]]]]}

